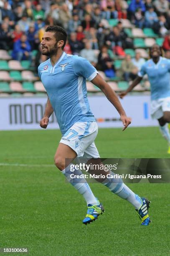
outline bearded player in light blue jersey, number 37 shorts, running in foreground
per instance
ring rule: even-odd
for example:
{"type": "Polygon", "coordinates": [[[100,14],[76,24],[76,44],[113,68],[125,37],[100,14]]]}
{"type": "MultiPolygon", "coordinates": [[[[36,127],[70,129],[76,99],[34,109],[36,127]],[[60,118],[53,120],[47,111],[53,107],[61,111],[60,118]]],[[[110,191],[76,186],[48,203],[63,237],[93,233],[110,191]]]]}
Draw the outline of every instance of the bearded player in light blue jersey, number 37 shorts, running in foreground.
{"type": "MultiPolygon", "coordinates": [[[[117,109],[124,125],[123,131],[131,121],[126,116],[115,92],[101,78],[89,61],[79,56],[66,54],[63,51],[66,39],[67,34],[63,28],[49,26],[46,28],[41,41],[42,54],[49,56],[50,59],[41,63],[38,67],[38,74],[48,95],[40,126],[47,128],[49,117],[54,111],[62,133],[54,162],[66,179],[86,200],[87,214],[83,223],[87,224],[96,220],[104,212],[104,208],[94,196],[86,179],[76,178],[77,175],[82,174],[81,170],[73,168],[71,164],[71,160],[79,157],[94,160],[100,157],[94,144],[98,128],[94,115],[89,108],[86,79],[96,84],[117,109]],[[70,159],[67,164],[66,159],[70,159]],[[71,177],[71,174],[74,174],[75,178],[71,177]]],[[[114,175],[112,172],[110,174],[114,175]]],[[[142,225],[149,225],[149,200],[135,195],[123,183],[122,179],[107,178],[101,182],[111,192],[129,201],[135,207],[142,225]]]]}

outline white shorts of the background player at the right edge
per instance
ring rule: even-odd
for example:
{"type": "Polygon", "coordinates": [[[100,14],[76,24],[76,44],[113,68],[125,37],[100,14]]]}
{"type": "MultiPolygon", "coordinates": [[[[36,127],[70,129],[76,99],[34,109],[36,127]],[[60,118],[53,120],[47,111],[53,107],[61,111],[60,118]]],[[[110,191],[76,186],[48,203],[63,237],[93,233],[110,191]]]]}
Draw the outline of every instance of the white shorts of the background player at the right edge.
{"type": "Polygon", "coordinates": [[[159,119],[163,116],[163,112],[170,111],[170,97],[161,98],[151,101],[151,116],[159,119]]]}

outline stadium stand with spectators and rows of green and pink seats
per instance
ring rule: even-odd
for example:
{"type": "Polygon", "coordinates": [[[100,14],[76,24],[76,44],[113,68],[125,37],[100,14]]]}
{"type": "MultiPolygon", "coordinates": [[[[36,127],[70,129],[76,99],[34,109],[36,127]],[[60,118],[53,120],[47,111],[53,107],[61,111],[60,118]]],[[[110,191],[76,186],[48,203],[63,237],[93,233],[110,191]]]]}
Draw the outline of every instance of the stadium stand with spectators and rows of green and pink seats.
{"type": "MultiPolygon", "coordinates": [[[[125,55],[129,54],[134,58],[136,51],[140,51],[141,57],[147,60],[148,47],[155,43],[162,46],[165,37],[167,46],[169,40],[169,11],[160,13],[154,0],[144,0],[139,20],[138,2],[141,1],[0,0],[0,97],[29,97],[46,93],[39,80],[37,67],[46,60],[46,57],[41,55],[39,45],[43,32],[49,25],[59,25],[66,29],[66,53],[80,55],[85,43],[89,41],[91,49],[97,57],[101,54],[101,58],[101,48],[107,46],[107,54],[112,61],[112,72],[108,71],[107,65],[104,68],[99,59],[96,68],[116,92],[125,90],[130,82],[124,81],[120,72],[125,55]],[[41,8],[37,8],[37,5],[41,8]],[[153,25],[148,27],[145,12],[151,6],[157,18],[153,25]],[[155,29],[158,27],[159,29],[155,29]],[[29,54],[16,54],[16,45],[23,45],[24,51],[29,54]]],[[[87,90],[100,92],[91,82],[87,82],[87,90]]],[[[150,84],[147,79],[135,87],[137,92],[148,90],[150,84]]]]}

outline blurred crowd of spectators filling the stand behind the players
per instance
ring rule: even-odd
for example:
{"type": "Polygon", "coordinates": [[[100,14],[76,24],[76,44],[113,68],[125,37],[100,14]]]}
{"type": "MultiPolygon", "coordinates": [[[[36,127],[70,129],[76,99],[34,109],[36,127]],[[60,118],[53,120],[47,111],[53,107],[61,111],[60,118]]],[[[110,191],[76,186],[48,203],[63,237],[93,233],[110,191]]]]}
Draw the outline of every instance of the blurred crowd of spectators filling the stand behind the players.
{"type": "Polygon", "coordinates": [[[114,77],[114,57],[124,58],[122,76],[133,79],[145,61],[137,52],[134,59],[124,49],[133,49],[133,40],[122,26],[129,19],[139,28],[152,28],[164,37],[163,49],[170,56],[170,3],[168,0],[0,0],[0,49],[12,50],[16,60],[32,59],[38,50],[46,27],[59,25],[66,29],[65,51],[88,59],[107,77],[114,77]],[[109,26],[109,19],[118,19],[109,26]]]}

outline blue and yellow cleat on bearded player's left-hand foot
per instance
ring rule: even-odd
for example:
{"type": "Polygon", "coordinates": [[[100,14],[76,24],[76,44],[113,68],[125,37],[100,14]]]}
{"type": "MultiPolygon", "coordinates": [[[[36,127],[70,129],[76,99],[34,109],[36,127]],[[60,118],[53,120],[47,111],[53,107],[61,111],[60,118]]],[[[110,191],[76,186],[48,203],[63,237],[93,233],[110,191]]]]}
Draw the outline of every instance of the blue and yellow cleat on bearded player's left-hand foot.
{"type": "Polygon", "coordinates": [[[104,213],[104,207],[100,204],[98,200],[98,205],[87,205],[87,214],[83,220],[83,223],[87,225],[87,223],[91,223],[98,218],[100,214],[104,213]]]}

